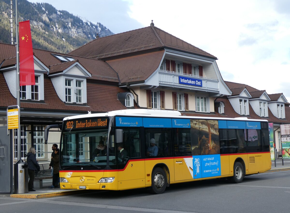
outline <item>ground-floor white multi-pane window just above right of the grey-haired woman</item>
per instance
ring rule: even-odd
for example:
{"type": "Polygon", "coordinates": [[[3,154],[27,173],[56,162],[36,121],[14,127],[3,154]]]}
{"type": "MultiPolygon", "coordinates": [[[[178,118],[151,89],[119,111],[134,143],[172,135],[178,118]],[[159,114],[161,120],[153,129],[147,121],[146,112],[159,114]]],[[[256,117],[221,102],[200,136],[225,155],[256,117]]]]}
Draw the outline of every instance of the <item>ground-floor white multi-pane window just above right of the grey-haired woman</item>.
{"type": "Polygon", "coordinates": [[[33,143],[36,151],[36,158],[44,158],[44,127],[33,127],[33,143]]]}

